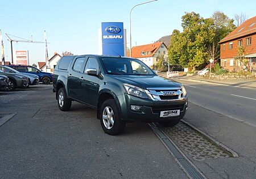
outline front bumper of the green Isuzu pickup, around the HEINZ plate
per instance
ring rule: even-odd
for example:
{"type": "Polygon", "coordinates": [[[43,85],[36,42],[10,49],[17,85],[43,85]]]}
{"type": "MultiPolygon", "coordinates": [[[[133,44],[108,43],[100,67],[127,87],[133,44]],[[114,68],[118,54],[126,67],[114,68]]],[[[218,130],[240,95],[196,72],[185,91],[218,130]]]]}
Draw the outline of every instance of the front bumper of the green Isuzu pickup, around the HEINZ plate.
{"type": "Polygon", "coordinates": [[[152,101],[141,99],[132,95],[119,95],[118,100],[121,108],[121,119],[134,122],[159,122],[173,119],[182,119],[188,108],[188,98],[177,101],[152,101]],[[133,112],[130,105],[143,106],[142,112],[133,112]],[[180,115],[175,117],[160,117],[160,111],[180,110],[180,115]]]}

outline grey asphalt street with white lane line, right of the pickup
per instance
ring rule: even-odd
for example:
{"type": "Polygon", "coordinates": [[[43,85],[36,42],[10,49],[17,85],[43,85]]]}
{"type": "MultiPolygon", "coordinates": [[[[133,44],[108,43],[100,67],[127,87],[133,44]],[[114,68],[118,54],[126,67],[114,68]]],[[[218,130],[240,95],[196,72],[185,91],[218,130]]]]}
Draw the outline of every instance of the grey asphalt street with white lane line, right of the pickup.
{"type": "Polygon", "coordinates": [[[191,103],[256,126],[256,89],[178,81],[186,87],[191,103]]]}

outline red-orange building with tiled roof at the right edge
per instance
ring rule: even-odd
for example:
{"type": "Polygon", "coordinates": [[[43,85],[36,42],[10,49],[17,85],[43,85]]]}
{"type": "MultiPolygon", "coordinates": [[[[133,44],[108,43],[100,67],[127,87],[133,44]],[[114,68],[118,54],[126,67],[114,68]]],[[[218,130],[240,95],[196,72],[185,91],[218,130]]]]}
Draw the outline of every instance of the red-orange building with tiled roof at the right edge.
{"type": "Polygon", "coordinates": [[[249,70],[256,72],[256,16],[246,20],[234,29],[219,44],[221,66],[229,71],[237,71],[242,65],[236,60],[239,46],[245,47],[245,57],[248,59],[249,70]]]}

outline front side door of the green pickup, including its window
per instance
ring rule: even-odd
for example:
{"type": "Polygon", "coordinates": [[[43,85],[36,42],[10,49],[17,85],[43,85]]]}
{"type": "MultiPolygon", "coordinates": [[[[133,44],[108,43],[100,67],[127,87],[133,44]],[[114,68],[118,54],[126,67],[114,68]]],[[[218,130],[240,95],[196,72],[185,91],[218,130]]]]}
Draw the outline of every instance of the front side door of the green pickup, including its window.
{"type": "Polygon", "coordinates": [[[99,86],[99,78],[98,76],[92,76],[86,74],[86,70],[88,69],[96,69],[97,72],[100,71],[100,66],[98,65],[98,61],[95,57],[89,57],[83,73],[83,80],[82,80],[82,87],[84,90],[84,95],[82,96],[82,99],[84,103],[97,106],[97,97],[98,97],[98,90],[100,88],[99,86]]]}

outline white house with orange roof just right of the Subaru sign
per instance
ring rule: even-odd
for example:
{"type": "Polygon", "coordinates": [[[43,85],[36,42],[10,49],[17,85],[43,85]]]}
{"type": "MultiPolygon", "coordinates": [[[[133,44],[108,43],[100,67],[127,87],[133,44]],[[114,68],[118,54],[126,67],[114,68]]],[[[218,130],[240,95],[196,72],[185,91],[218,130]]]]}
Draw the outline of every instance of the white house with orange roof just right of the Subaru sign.
{"type": "Polygon", "coordinates": [[[151,67],[156,65],[157,58],[160,55],[164,56],[164,59],[168,57],[168,49],[164,42],[155,42],[154,44],[133,46],[131,48],[131,57],[137,58],[151,67]]]}

